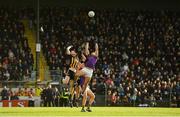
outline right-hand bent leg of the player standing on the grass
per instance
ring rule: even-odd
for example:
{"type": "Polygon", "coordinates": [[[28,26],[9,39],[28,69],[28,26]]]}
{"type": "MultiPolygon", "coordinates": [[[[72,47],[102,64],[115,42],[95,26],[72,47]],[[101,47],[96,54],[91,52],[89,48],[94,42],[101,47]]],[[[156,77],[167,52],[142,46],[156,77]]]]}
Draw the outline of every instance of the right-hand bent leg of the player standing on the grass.
{"type": "Polygon", "coordinates": [[[92,112],[92,110],[90,109],[92,103],[94,102],[95,99],[95,95],[94,93],[91,91],[91,89],[89,89],[89,87],[87,88],[87,96],[90,97],[89,99],[89,104],[88,104],[88,108],[86,109],[88,112],[92,112]]]}

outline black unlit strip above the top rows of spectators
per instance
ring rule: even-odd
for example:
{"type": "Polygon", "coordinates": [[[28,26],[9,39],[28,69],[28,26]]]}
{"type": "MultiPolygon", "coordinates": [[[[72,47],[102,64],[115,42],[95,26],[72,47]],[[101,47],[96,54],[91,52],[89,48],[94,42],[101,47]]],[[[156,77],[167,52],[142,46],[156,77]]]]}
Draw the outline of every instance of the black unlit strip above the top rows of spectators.
{"type": "MultiPolygon", "coordinates": [[[[0,0],[1,6],[37,6],[37,0],[0,0]]],[[[180,0],[40,0],[41,6],[180,10],[180,0]]]]}

